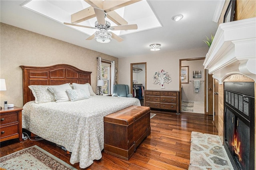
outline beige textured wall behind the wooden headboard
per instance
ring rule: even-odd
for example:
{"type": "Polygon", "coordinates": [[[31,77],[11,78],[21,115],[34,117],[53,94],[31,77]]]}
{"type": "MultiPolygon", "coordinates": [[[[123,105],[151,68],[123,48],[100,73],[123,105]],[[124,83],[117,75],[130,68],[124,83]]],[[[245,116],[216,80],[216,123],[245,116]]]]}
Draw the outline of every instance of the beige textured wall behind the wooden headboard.
{"type": "Polygon", "coordinates": [[[26,66],[70,64],[92,72],[92,88],[96,91],[97,57],[116,62],[118,58],[46,37],[31,31],[1,23],[0,78],[6,79],[7,91],[0,92],[3,101],[22,107],[22,69],[26,66]]]}

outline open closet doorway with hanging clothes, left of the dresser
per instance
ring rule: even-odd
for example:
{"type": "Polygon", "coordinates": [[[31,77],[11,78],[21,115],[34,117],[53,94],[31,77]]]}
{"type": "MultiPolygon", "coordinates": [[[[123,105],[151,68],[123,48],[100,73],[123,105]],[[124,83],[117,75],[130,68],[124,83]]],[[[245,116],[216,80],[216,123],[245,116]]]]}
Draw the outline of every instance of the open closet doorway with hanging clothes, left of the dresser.
{"type": "Polygon", "coordinates": [[[147,63],[131,63],[131,93],[143,104],[143,90],[146,89],[147,63]]]}

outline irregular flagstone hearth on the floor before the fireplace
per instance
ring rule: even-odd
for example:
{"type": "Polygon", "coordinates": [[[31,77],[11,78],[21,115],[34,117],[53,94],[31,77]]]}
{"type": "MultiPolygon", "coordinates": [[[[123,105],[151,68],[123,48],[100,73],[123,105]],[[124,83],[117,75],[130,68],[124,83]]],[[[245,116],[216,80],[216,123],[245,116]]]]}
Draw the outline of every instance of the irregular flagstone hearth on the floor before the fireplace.
{"type": "Polygon", "coordinates": [[[191,133],[188,170],[233,170],[218,135],[191,133]]]}

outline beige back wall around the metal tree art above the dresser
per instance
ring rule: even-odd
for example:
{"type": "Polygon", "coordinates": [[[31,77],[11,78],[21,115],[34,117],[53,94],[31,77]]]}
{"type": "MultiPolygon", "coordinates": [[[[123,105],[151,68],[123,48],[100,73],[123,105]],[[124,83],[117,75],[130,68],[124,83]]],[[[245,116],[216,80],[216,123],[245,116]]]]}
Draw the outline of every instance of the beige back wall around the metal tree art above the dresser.
{"type": "MultiPolygon", "coordinates": [[[[149,50],[149,49],[148,49],[149,50]]],[[[170,53],[160,53],[152,51],[151,55],[140,55],[119,59],[118,82],[130,86],[130,63],[147,63],[146,88],[147,90],[161,90],[159,84],[153,84],[153,75],[161,69],[166,70],[172,81],[164,83],[165,90],[179,90],[179,61],[180,59],[205,57],[208,52],[207,46],[201,49],[189,49],[186,51],[175,51],[170,53]]]]}

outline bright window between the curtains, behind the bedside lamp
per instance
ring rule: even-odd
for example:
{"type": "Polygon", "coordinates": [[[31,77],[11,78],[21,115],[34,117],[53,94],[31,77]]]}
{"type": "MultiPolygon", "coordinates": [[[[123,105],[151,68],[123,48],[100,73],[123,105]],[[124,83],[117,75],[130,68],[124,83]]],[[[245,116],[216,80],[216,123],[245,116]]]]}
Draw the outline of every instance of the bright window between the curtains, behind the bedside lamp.
{"type": "Polygon", "coordinates": [[[104,80],[104,86],[101,87],[102,93],[110,94],[110,64],[103,63],[101,64],[101,73],[102,73],[102,80],[104,80]]]}

